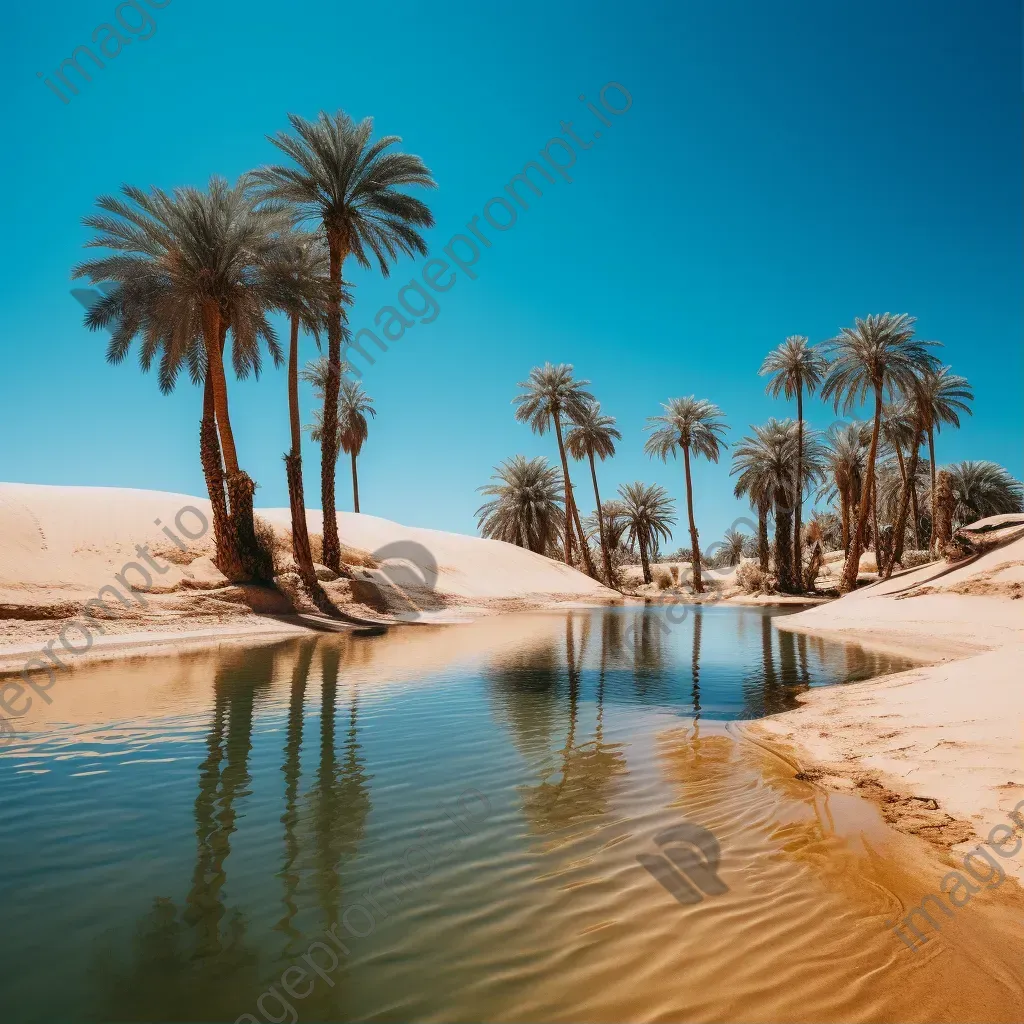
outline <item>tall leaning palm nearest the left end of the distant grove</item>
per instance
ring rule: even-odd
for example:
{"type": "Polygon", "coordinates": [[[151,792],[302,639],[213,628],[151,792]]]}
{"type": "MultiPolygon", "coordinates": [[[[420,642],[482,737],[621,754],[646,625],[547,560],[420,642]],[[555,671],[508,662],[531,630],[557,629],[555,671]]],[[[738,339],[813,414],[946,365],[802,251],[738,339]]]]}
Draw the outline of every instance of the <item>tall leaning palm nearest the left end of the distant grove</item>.
{"type": "Polygon", "coordinates": [[[517,394],[512,399],[512,404],[517,407],[515,418],[520,423],[528,423],[534,433],[545,434],[549,427],[554,427],[565,483],[565,564],[572,564],[574,523],[584,564],[587,571],[596,579],[594,565],[590,560],[590,548],[572,498],[572,481],[569,479],[569,464],[565,458],[565,442],[562,438],[562,415],[573,422],[583,420],[587,416],[588,407],[594,401],[594,396],[584,390],[590,381],[578,381],[572,377],[571,364],[560,362],[555,367],[545,362],[543,367],[534,367],[526,380],[519,381],[516,386],[521,387],[525,393],[517,394]]]}

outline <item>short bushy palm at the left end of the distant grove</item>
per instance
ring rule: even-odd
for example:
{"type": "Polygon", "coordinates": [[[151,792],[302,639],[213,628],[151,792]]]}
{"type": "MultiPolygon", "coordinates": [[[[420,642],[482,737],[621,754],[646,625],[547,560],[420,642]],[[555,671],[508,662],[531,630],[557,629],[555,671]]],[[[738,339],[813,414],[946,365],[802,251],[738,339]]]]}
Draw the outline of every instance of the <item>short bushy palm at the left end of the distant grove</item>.
{"type": "Polygon", "coordinates": [[[553,553],[564,528],[562,481],[543,456],[517,455],[495,467],[493,480],[479,488],[494,500],[476,510],[480,534],[494,541],[553,553]]]}

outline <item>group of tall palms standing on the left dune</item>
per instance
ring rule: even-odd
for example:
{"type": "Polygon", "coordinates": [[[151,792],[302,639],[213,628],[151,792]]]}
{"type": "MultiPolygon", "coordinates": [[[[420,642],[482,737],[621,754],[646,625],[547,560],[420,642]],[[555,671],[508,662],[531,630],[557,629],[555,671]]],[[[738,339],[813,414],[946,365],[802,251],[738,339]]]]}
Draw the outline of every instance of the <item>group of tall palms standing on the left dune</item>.
{"type": "Polygon", "coordinates": [[[433,217],[403,189],[435,182],[419,157],[393,148],[398,137],[373,140],[371,119],[356,123],[339,111],[322,112],[314,121],[289,115],[289,121],[291,132],[269,139],[288,163],[245,174],[234,185],[214,176],[206,190],[125,185],[123,198],[100,197],[100,212],[84,221],[96,232],[86,245],[106,252],[81,263],[73,276],[103,286],[86,325],[111,330],[110,361],[124,359],[138,339],[140,365],[148,370],[158,364],[164,392],[174,388],[182,369],[203,387],[200,455],[217,565],[232,581],[268,581],[273,569],[256,536],[255,483],[242,469],[231,430],[227,343],[236,376],[258,376],[264,348],[274,365],[284,359],[270,315],[288,318],[291,447],[285,465],[293,556],[310,595],[334,613],[316,582],[305,521],[299,335],[305,332],[317,345],[327,335],[326,358],[305,376],[323,402],[313,425],[322,454],[323,561],[346,575],[335,512],[338,452],[352,459],[357,511],[355,459],[374,411],[359,385],[342,379],[352,302],[342,274],[346,261],[354,261],[364,268],[376,264],[386,276],[399,256],[424,255],[420,230],[433,217]]]}

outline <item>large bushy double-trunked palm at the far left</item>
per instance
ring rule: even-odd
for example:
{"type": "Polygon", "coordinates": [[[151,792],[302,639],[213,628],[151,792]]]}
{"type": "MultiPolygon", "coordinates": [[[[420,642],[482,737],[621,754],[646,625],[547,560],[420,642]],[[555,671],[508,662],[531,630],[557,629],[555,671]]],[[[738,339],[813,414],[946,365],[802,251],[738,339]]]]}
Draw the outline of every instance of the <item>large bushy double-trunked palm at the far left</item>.
{"type": "Polygon", "coordinates": [[[266,318],[263,270],[275,258],[278,238],[288,230],[290,216],[280,204],[257,205],[248,176],[233,187],[214,176],[206,193],[193,187],[145,193],[131,185],[122,193],[124,200],[101,196],[96,205],[103,212],[83,221],[97,231],[86,246],[113,254],[79,264],[73,278],[119,286],[90,310],[86,323],[95,329],[104,326],[104,317],[119,322],[112,339],[114,361],[117,353],[123,358],[131,339],[141,334],[144,357],[164,349],[161,370],[168,379],[183,362],[188,362],[194,380],[205,376],[204,469],[214,516],[230,517],[230,528],[225,523],[219,534],[229,537],[218,551],[227,563],[222,570],[232,579],[267,578],[272,567],[265,564],[256,542],[255,484],[239,466],[223,357],[229,328],[238,376],[259,373],[261,339],[274,364],[281,362],[281,348],[266,318]],[[217,468],[221,456],[223,470],[217,468]]]}

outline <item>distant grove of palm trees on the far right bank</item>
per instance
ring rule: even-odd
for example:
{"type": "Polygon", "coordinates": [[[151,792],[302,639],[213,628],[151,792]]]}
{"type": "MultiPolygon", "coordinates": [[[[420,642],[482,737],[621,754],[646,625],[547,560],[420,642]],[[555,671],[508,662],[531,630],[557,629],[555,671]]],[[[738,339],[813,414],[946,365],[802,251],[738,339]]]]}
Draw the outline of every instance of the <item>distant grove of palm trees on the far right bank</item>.
{"type": "MultiPolygon", "coordinates": [[[[1022,509],[1024,488],[991,462],[964,462],[936,469],[936,434],[959,426],[970,415],[974,394],[969,382],[933,352],[938,342],[916,337],[914,318],[882,313],[858,318],[852,327],[812,345],[802,336],[786,338],[765,358],[772,397],[796,401],[796,420],[772,418],[753,426],[735,442],[732,474],[735,496],[745,498],[758,516],[756,542],[735,529],[727,532],[718,558],[736,564],[756,555],[761,568],[773,569],[779,590],[813,587],[814,558],[805,564],[805,547],[842,547],[846,553],[841,590],[857,583],[860,559],[872,548],[880,573],[901,563],[907,543],[936,552],[948,543],[945,519],[953,526],[972,519],[1022,509]],[[808,426],[804,399],[815,394],[837,413],[866,406],[870,418],[842,421],[821,432],[808,426]],[[922,450],[927,454],[922,455],[922,450]],[[824,501],[836,511],[816,509],[804,522],[804,503],[824,501]],[[774,525],[769,544],[769,525],[774,525]]],[[[485,537],[560,556],[597,578],[589,541],[599,542],[603,578],[613,585],[613,561],[639,555],[643,579],[651,582],[650,560],[672,536],[675,506],[668,492],[640,481],[618,488],[618,500],[602,504],[595,457],[615,453],[622,434],[567,365],[535,368],[513,399],[516,418],[535,432],[555,434],[561,473],[544,458],[516,456],[497,467],[496,482],[481,488],[492,498],[477,512],[485,537]],[[563,435],[563,427],[567,433],[563,435]],[[595,512],[581,518],[569,478],[568,456],[588,459],[595,512]]],[[[693,514],[691,462],[718,462],[726,449],[727,426],[721,410],[693,396],[673,398],[648,418],[644,451],[667,461],[682,455],[693,589],[701,593],[701,556],[693,514]]],[[[681,549],[682,552],[682,549],[681,549]]]]}

